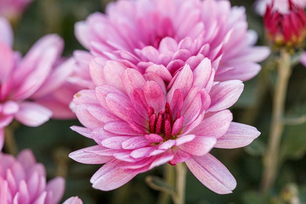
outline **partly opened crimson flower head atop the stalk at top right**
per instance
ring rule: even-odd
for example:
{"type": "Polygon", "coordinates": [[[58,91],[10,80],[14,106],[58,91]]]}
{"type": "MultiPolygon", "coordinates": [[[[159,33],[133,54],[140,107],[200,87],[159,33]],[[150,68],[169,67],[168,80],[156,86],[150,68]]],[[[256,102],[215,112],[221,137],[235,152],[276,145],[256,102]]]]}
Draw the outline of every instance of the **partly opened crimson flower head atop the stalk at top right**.
{"type": "Polygon", "coordinates": [[[287,0],[286,8],[287,12],[281,13],[274,8],[274,1],[267,5],[263,19],[267,38],[275,48],[302,47],[306,37],[305,11],[292,0],[287,0]]]}

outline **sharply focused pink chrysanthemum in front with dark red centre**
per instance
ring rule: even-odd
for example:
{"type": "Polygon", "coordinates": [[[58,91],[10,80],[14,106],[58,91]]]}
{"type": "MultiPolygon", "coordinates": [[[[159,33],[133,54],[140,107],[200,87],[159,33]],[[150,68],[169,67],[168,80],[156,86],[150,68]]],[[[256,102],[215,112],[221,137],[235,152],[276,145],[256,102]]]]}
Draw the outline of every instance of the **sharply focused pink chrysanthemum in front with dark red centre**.
{"type": "Polygon", "coordinates": [[[215,70],[207,58],[194,70],[186,64],[169,85],[159,65],[145,74],[116,61],[100,69],[97,77],[106,84],[75,95],[76,114],[85,127],[72,127],[97,145],[69,154],[82,163],[106,163],[90,180],[94,188],[112,190],[155,166],[185,162],[209,189],[232,192],[234,177],[209,152],[242,147],[260,135],[254,127],[231,122],[226,110],[239,98],[241,81],[213,82],[215,70]]]}

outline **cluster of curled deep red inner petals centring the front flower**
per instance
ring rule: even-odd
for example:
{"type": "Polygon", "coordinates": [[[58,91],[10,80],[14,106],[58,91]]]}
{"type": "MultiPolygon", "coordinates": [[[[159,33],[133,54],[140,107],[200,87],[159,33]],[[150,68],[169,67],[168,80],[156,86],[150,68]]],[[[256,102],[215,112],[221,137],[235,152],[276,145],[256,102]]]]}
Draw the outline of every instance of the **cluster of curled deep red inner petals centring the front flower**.
{"type": "Polygon", "coordinates": [[[183,119],[180,112],[176,113],[173,118],[172,111],[168,102],[166,102],[165,110],[154,113],[154,108],[148,108],[149,128],[150,132],[162,136],[165,140],[174,139],[182,128],[182,122],[176,122],[177,119],[183,119]]]}

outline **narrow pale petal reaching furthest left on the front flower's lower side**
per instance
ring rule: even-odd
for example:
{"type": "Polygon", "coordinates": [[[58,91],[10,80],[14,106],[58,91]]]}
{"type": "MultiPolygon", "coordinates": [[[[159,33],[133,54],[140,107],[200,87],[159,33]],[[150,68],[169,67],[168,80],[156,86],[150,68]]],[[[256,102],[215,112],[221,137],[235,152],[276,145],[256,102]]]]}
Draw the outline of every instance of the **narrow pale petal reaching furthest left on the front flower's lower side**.
{"type": "Polygon", "coordinates": [[[99,145],[86,147],[69,154],[69,157],[77,162],[85,163],[85,164],[102,164],[108,162],[113,157],[110,156],[101,156],[98,154],[94,154],[90,151],[97,151],[103,149],[99,145]]]}

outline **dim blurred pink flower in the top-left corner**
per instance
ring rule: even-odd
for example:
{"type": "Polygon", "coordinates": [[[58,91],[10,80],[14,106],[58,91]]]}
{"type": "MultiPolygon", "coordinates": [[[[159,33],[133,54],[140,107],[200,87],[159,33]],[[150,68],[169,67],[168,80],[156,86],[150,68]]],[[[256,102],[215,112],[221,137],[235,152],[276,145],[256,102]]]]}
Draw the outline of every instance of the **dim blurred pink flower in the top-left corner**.
{"type": "Polygon", "coordinates": [[[0,0],[0,16],[16,19],[33,0],[0,0]]]}

